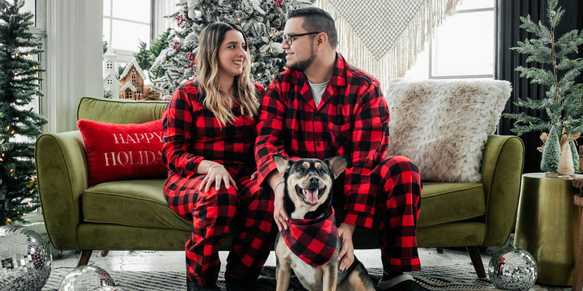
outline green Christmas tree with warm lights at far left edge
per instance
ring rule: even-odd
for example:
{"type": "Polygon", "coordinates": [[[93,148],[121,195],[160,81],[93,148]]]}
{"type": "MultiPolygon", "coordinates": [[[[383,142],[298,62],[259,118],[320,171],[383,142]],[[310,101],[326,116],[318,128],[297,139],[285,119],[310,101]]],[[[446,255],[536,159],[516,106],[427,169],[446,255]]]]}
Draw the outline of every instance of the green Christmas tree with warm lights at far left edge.
{"type": "Polygon", "coordinates": [[[47,120],[30,106],[38,90],[43,52],[30,32],[33,15],[19,12],[23,0],[0,0],[0,219],[26,222],[38,208],[34,139],[47,120]]]}

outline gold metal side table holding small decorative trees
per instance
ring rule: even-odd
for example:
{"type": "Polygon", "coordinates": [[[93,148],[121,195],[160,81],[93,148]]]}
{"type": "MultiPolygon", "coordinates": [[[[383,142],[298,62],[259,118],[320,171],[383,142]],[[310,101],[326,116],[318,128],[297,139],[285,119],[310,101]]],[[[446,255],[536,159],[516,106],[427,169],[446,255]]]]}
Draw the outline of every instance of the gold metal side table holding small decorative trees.
{"type": "Polygon", "coordinates": [[[573,204],[579,189],[571,181],[545,178],[544,173],[522,175],[514,246],[535,258],[537,283],[571,286],[573,282],[581,208],[573,204]]]}

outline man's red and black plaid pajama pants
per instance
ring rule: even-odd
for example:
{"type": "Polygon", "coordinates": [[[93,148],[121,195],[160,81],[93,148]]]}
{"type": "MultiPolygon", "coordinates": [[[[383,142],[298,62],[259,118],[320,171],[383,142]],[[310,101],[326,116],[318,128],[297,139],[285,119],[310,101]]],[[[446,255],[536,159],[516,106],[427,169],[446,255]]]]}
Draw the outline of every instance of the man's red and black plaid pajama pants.
{"type": "MultiPolygon", "coordinates": [[[[338,191],[342,187],[338,188],[335,183],[335,197],[342,197],[338,191]]],[[[382,159],[371,172],[370,191],[377,197],[374,218],[380,222],[378,239],[383,268],[395,272],[419,271],[416,230],[422,182],[417,166],[401,155],[382,159]]],[[[343,204],[336,207],[342,209],[343,204]]]]}

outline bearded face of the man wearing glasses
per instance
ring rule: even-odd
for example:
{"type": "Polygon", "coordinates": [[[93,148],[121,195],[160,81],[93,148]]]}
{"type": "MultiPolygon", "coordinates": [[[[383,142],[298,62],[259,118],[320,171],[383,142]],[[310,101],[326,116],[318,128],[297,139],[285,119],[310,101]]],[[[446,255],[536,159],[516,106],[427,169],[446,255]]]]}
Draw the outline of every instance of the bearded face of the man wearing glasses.
{"type": "MultiPolygon", "coordinates": [[[[283,29],[283,34],[302,34],[311,31],[306,31],[302,26],[304,17],[292,17],[287,20],[286,27],[283,29]]],[[[288,45],[284,40],[282,42],[282,49],[286,51],[286,66],[291,70],[304,72],[310,68],[312,62],[316,58],[314,47],[312,45],[313,39],[311,35],[292,37],[291,45],[288,45]]]]}

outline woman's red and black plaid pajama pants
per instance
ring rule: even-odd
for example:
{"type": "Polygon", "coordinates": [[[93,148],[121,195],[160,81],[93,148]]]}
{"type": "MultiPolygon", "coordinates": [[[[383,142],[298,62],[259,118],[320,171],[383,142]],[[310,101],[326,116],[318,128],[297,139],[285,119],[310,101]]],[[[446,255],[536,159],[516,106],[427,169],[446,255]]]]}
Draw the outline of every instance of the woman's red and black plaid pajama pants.
{"type": "MultiPolygon", "coordinates": [[[[229,171],[233,176],[234,171],[229,171]]],[[[277,228],[273,222],[273,195],[247,175],[234,177],[234,187],[214,184],[208,192],[198,188],[206,175],[184,178],[171,175],[164,185],[170,208],[192,221],[192,239],[186,243],[187,279],[199,286],[217,281],[220,270],[219,246],[237,219],[242,230],[233,240],[225,276],[254,280],[273,246],[277,228]]]]}

